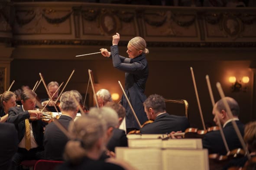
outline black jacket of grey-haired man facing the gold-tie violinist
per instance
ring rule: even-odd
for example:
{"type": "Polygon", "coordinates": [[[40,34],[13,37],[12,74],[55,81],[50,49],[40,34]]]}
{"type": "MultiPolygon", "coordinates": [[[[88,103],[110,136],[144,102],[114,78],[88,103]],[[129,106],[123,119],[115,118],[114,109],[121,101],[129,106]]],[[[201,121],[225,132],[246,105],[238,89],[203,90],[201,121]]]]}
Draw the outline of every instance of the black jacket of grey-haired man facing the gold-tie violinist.
{"type": "MultiPolygon", "coordinates": [[[[62,115],[58,119],[66,129],[68,129],[69,123],[72,120],[71,117],[62,115]]],[[[49,123],[45,127],[44,135],[44,148],[45,159],[62,161],[65,145],[68,142],[68,137],[55,125],[55,123],[49,123]]]]}

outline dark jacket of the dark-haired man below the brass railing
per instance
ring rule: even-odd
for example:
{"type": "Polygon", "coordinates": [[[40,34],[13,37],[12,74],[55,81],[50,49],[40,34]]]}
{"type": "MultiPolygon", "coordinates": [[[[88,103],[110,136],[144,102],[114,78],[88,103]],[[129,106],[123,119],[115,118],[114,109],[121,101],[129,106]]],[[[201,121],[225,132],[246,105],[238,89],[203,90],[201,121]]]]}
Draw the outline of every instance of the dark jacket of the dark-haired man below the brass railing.
{"type": "Polygon", "coordinates": [[[169,113],[163,113],[156,117],[153,123],[146,124],[140,129],[142,134],[165,134],[172,131],[184,132],[189,128],[188,119],[185,116],[175,116],[169,113]]]}

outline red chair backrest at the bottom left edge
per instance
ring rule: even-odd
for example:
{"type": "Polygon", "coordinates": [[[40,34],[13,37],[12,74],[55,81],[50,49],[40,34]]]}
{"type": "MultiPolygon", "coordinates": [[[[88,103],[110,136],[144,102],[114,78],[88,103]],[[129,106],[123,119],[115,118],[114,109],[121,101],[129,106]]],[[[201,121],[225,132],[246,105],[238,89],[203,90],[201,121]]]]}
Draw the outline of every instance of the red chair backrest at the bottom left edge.
{"type": "Polygon", "coordinates": [[[54,170],[56,166],[62,164],[63,161],[39,160],[34,166],[34,170],[54,170]]]}

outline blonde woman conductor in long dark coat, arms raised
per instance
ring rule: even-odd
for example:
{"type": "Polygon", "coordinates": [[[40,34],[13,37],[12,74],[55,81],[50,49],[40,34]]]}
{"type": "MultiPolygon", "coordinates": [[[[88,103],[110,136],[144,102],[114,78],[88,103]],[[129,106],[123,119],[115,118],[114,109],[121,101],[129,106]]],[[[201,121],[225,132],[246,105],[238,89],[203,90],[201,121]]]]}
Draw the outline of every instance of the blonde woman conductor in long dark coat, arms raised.
{"type": "MultiPolygon", "coordinates": [[[[146,41],[141,37],[132,38],[128,45],[127,51],[129,58],[119,55],[118,42],[120,35],[112,36],[112,46],[110,47],[111,53],[104,48],[101,48],[101,54],[104,57],[111,57],[113,60],[113,66],[121,71],[125,72],[125,93],[132,102],[134,111],[142,124],[147,120],[146,114],[143,110],[143,101],[146,100],[144,94],[146,81],[149,76],[148,62],[146,60],[146,54],[149,50],[146,48],[146,41]]],[[[139,125],[136,122],[133,112],[126,101],[126,98],[122,97],[121,104],[126,109],[126,132],[130,132],[134,129],[139,129],[139,125]]]]}

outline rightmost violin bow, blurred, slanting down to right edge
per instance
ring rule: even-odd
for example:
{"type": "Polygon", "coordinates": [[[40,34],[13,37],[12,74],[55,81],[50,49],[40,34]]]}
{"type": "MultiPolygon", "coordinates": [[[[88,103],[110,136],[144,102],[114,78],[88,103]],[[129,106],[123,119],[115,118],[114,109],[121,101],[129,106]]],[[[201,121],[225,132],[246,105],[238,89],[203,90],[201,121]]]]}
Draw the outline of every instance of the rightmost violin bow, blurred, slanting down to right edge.
{"type": "Polygon", "coordinates": [[[226,99],[225,99],[225,94],[224,94],[224,92],[223,92],[223,90],[222,90],[222,88],[221,88],[220,82],[217,82],[217,83],[216,83],[216,86],[217,86],[217,89],[218,89],[218,91],[219,91],[219,93],[220,93],[220,97],[223,99],[223,103],[224,103],[224,106],[225,106],[225,108],[226,108],[226,110],[227,110],[227,114],[228,114],[228,116],[232,119],[231,122],[232,122],[232,124],[233,124],[233,127],[234,127],[236,133],[237,133],[238,139],[240,140],[241,145],[243,146],[243,149],[246,151],[246,156],[247,156],[248,159],[250,160],[250,159],[251,159],[251,156],[250,156],[250,154],[249,154],[248,149],[246,148],[246,144],[245,144],[245,142],[244,142],[244,140],[243,140],[243,137],[242,137],[242,135],[241,135],[241,133],[240,133],[240,131],[239,131],[239,129],[238,129],[237,123],[235,122],[235,120],[233,120],[232,112],[231,112],[231,110],[230,110],[229,105],[227,104],[227,101],[226,101],[226,99]]]}

